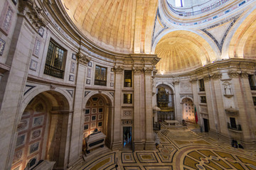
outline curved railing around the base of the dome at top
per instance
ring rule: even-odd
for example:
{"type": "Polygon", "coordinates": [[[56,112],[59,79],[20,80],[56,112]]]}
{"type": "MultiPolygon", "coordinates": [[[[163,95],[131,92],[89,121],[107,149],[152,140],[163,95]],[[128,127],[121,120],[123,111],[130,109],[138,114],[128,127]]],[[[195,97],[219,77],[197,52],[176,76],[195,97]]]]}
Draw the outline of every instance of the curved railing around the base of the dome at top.
{"type": "MultiPolygon", "coordinates": [[[[172,6],[171,4],[169,4],[167,1],[166,3],[168,4],[169,8],[171,9],[172,12],[178,14],[178,16],[196,16],[196,15],[200,15],[202,13],[206,13],[208,11],[212,11],[213,9],[215,8],[218,8],[219,6],[223,6],[223,4],[226,4],[228,1],[230,0],[220,0],[218,1],[217,3],[215,4],[212,4],[206,8],[202,8],[201,10],[199,11],[192,11],[192,12],[180,12],[180,11],[176,11],[172,6]]],[[[191,8],[192,10],[192,8],[191,8]]]]}

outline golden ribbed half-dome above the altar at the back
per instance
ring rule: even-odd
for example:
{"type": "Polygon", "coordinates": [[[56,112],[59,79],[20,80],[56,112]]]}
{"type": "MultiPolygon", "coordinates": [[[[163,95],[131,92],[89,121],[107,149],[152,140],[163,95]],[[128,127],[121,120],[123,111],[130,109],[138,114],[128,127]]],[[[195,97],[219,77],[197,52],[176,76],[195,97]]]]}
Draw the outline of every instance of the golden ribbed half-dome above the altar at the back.
{"type": "Polygon", "coordinates": [[[215,59],[215,52],[206,40],[185,30],[164,35],[155,53],[161,58],[156,64],[161,74],[190,71],[215,59]]]}

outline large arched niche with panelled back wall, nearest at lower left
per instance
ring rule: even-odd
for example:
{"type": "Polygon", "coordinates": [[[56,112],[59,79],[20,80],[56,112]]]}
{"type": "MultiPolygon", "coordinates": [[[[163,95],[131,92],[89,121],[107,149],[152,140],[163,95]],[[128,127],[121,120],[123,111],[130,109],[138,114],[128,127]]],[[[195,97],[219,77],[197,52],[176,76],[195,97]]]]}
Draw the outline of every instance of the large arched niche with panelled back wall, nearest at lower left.
{"type": "Polygon", "coordinates": [[[70,105],[63,94],[43,91],[33,96],[18,121],[11,169],[25,169],[33,158],[55,162],[55,169],[66,167],[70,115],[70,105]]]}

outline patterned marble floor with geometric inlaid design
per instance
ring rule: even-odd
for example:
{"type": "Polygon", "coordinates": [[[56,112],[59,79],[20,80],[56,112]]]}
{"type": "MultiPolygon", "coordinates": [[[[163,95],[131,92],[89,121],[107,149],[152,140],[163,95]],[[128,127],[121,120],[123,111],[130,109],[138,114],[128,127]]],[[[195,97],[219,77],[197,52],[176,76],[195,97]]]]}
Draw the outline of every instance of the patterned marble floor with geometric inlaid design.
{"type": "Polygon", "coordinates": [[[256,151],[230,147],[186,128],[165,128],[157,135],[160,145],[155,151],[108,152],[80,169],[256,169],[256,151]]]}

